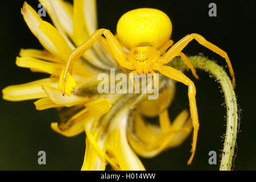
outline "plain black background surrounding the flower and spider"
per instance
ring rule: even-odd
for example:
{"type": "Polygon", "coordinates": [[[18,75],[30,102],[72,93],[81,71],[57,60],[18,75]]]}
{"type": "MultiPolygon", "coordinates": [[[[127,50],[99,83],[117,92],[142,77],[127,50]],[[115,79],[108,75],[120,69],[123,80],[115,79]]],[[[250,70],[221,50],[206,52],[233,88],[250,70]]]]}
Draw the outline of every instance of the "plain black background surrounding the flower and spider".
{"type": "MultiPolygon", "coordinates": [[[[27,1],[38,10],[38,1],[27,1]]],[[[1,83],[0,89],[44,78],[43,73],[15,65],[20,48],[43,49],[28,29],[20,14],[23,1],[4,1],[0,11],[1,83]]],[[[115,32],[120,16],[139,7],[152,7],[164,11],[172,20],[171,38],[177,42],[183,36],[196,32],[224,49],[232,61],[236,73],[236,94],[241,115],[241,132],[238,134],[238,150],[234,170],[256,169],[255,127],[255,1],[97,1],[98,27],[115,32]],[[217,4],[217,17],[208,16],[210,2],[217,4]]],[[[44,20],[49,20],[48,17],[44,20]]],[[[187,55],[202,52],[225,67],[222,57],[210,52],[196,42],[184,49],[187,55]]],[[[228,69],[226,69],[228,71],[228,69]]],[[[208,152],[221,154],[225,133],[225,107],[218,83],[207,73],[197,71],[195,80],[200,131],[197,151],[191,166],[187,166],[191,137],[180,147],[164,151],[152,159],[142,159],[149,170],[217,170],[208,164],[208,152]]],[[[85,135],[65,138],[54,133],[50,123],[57,121],[54,109],[37,111],[33,101],[10,102],[0,100],[0,169],[1,170],[79,170],[85,151],[85,135]],[[38,151],[47,154],[47,164],[38,165],[38,151]]],[[[176,96],[170,107],[171,119],[179,111],[188,108],[187,88],[177,84],[176,96]]]]}

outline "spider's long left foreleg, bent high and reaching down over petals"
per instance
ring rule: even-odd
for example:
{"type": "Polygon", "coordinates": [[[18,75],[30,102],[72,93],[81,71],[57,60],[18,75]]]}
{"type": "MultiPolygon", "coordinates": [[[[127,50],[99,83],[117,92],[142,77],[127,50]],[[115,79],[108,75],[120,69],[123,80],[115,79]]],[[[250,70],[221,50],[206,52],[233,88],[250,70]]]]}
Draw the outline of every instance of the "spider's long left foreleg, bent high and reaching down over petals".
{"type": "Polygon", "coordinates": [[[125,67],[128,69],[131,68],[131,63],[127,61],[125,53],[123,53],[123,49],[118,43],[118,40],[114,37],[114,35],[109,30],[101,28],[95,31],[88,39],[84,40],[84,42],[82,42],[80,46],[74,49],[71,55],[69,55],[69,58],[65,67],[64,75],[63,75],[63,80],[62,80],[63,95],[65,94],[65,83],[67,82],[68,72],[70,72],[73,63],[75,63],[75,61],[79,59],[79,57],[81,57],[85,51],[87,51],[90,47],[92,47],[93,43],[96,40],[98,40],[98,38],[100,38],[102,34],[106,37],[109,48],[112,51],[115,60],[117,60],[122,67],[125,67]]]}

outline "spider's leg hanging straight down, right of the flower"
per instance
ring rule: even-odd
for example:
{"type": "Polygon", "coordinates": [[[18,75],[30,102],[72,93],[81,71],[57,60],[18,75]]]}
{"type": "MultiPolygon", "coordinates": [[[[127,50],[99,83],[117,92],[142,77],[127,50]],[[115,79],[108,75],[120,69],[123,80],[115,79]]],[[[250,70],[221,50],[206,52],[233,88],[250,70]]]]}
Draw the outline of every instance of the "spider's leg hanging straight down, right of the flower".
{"type": "Polygon", "coordinates": [[[195,84],[183,73],[177,71],[172,67],[162,66],[157,68],[157,70],[162,73],[163,75],[170,77],[176,81],[182,82],[183,84],[188,86],[188,100],[191,112],[191,119],[193,125],[193,139],[192,139],[192,149],[191,149],[191,157],[188,160],[188,164],[191,164],[193,160],[193,156],[195,155],[196,151],[196,141],[197,141],[197,133],[199,130],[199,119],[197,115],[197,107],[196,107],[196,88],[195,84]]]}

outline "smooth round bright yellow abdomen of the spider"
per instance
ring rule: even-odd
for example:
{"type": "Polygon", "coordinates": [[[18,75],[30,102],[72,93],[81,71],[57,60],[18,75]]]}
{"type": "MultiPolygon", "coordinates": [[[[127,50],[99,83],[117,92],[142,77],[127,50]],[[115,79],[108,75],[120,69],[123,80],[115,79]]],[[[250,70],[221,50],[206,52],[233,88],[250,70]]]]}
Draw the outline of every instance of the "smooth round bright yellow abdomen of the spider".
{"type": "Polygon", "coordinates": [[[142,8],[123,14],[117,23],[119,40],[127,48],[154,46],[159,48],[170,39],[172,23],[163,11],[142,8]]]}

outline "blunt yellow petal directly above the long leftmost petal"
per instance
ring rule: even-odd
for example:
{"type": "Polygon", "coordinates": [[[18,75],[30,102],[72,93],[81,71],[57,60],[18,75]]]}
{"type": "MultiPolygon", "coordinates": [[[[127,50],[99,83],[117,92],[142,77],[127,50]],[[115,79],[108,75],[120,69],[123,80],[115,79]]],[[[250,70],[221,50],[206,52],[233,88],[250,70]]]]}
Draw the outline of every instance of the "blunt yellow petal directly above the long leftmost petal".
{"type": "Polygon", "coordinates": [[[53,74],[63,69],[63,64],[50,63],[32,57],[16,57],[16,65],[23,68],[31,68],[40,72],[53,74]]]}

